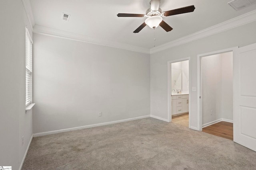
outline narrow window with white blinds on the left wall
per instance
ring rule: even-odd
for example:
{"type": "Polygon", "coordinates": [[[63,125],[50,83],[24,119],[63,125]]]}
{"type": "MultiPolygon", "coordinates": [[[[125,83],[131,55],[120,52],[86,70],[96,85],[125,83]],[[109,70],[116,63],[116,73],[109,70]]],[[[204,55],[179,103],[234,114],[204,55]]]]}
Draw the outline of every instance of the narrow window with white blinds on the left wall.
{"type": "Polygon", "coordinates": [[[32,104],[32,43],[26,28],[26,106],[32,104]]]}

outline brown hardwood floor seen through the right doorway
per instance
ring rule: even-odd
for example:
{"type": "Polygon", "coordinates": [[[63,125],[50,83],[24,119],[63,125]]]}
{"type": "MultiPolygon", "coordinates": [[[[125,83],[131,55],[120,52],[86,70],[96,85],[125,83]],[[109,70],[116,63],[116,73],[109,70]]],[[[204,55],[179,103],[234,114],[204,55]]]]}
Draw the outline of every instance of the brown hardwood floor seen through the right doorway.
{"type": "Polygon", "coordinates": [[[213,125],[204,127],[202,131],[233,141],[233,123],[221,121],[213,125]]]}

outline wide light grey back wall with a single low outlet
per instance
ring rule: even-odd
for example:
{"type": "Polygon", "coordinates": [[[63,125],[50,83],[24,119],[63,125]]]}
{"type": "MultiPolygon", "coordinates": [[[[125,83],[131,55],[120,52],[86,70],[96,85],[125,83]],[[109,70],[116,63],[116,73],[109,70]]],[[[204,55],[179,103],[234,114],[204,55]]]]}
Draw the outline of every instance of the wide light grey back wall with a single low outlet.
{"type": "Polygon", "coordinates": [[[34,34],[33,76],[34,133],[150,115],[147,54],[34,34]]]}

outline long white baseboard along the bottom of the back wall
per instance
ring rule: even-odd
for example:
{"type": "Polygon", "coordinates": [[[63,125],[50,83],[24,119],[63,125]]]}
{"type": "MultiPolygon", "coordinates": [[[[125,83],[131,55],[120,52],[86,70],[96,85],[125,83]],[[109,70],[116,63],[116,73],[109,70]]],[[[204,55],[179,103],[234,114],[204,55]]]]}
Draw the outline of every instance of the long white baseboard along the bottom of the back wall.
{"type": "Polygon", "coordinates": [[[39,136],[44,136],[44,135],[52,135],[52,134],[68,132],[68,131],[75,131],[75,130],[86,129],[86,128],[90,128],[90,127],[110,125],[110,124],[114,124],[114,123],[121,123],[121,122],[125,122],[125,121],[136,120],[136,119],[144,119],[144,118],[147,118],[147,117],[150,117],[150,115],[134,117],[134,118],[130,118],[130,119],[123,119],[123,120],[118,120],[118,121],[110,121],[110,122],[106,122],[106,123],[98,123],[98,124],[93,124],[93,125],[86,125],[86,126],[80,126],[80,127],[72,127],[72,128],[68,128],[68,129],[60,129],[60,130],[56,130],[56,131],[35,133],[34,137],[39,137],[39,136]]]}

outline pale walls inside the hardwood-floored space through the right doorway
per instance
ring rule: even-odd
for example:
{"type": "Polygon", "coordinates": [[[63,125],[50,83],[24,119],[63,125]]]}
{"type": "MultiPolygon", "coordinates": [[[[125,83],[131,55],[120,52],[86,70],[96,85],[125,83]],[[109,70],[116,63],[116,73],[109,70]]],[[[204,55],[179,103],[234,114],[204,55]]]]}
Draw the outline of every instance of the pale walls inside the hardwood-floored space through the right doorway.
{"type": "Polygon", "coordinates": [[[233,52],[202,57],[202,124],[233,120],[233,52]],[[212,111],[212,115],[211,115],[212,111]]]}

